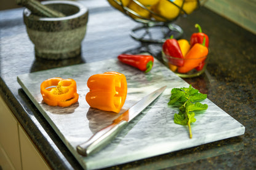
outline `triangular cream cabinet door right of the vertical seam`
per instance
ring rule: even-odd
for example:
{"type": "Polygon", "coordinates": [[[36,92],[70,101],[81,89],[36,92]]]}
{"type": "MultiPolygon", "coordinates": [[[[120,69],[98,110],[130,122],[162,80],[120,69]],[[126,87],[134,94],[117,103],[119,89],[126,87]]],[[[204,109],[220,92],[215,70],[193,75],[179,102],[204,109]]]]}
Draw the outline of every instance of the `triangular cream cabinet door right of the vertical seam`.
{"type": "Polygon", "coordinates": [[[20,150],[22,153],[22,169],[46,170],[50,169],[44,158],[40,155],[33,142],[25,133],[24,129],[19,125],[20,133],[20,150]]]}

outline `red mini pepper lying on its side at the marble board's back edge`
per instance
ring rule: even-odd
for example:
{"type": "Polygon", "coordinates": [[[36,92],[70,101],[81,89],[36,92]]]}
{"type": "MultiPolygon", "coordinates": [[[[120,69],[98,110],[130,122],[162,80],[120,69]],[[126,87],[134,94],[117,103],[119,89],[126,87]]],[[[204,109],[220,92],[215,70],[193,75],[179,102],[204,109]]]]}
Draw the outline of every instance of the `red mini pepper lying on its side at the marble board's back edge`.
{"type": "Polygon", "coordinates": [[[130,66],[134,66],[141,71],[145,71],[145,73],[151,70],[154,63],[154,58],[151,55],[121,54],[118,56],[118,60],[130,66]]]}

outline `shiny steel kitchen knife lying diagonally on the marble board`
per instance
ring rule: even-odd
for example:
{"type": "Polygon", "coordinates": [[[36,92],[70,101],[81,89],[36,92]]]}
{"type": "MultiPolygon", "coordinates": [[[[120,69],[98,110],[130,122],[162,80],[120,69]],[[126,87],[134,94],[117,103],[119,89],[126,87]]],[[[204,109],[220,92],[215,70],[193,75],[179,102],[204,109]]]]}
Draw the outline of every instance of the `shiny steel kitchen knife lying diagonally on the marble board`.
{"type": "Polygon", "coordinates": [[[130,107],[130,109],[113,120],[111,125],[101,129],[90,137],[88,141],[78,145],[76,147],[78,153],[83,156],[88,156],[105,147],[134,117],[140,114],[154,99],[158,98],[165,89],[166,86],[161,87],[150,93],[150,95],[145,96],[145,98],[138,101],[134,106],[130,107]]]}

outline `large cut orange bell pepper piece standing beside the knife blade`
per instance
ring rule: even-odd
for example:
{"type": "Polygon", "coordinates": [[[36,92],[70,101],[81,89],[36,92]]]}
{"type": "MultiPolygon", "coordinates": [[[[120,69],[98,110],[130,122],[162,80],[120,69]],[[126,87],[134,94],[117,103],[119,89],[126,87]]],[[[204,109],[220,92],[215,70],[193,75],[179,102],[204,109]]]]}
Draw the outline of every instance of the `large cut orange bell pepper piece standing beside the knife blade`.
{"type": "Polygon", "coordinates": [[[94,74],[87,80],[90,91],[86,101],[90,107],[119,113],[127,95],[126,76],[119,72],[94,74]]]}

